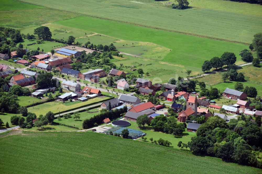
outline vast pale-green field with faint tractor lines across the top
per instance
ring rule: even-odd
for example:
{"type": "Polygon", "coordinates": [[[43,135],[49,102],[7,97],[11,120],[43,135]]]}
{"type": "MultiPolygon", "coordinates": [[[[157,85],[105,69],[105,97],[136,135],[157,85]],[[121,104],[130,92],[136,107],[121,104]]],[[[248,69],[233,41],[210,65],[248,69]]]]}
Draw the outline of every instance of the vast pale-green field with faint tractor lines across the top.
{"type": "MultiPolygon", "coordinates": [[[[261,6],[258,4],[249,8],[250,10],[255,9],[256,12],[253,15],[246,15],[241,11],[234,10],[236,13],[232,13],[228,10],[217,10],[214,7],[214,9],[205,7],[175,10],[156,3],[128,0],[83,0],[77,3],[62,0],[22,1],[59,10],[74,11],[77,9],[80,14],[102,19],[245,43],[250,43],[253,35],[260,32],[262,28],[262,18],[260,15],[256,16],[259,9],[261,11],[261,6]]],[[[223,3],[220,1],[219,4],[223,3]]],[[[209,4],[211,6],[211,1],[209,4]]],[[[234,6],[233,3],[231,5],[234,6]]],[[[245,4],[235,8],[245,8],[245,4]]]]}

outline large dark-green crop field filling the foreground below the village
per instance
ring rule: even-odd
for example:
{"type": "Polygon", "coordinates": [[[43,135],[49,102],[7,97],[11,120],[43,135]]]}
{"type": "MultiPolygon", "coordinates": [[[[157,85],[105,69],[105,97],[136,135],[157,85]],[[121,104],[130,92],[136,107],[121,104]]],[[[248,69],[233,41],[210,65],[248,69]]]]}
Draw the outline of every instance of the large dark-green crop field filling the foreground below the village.
{"type": "Polygon", "coordinates": [[[261,173],[219,158],[94,132],[11,131],[0,136],[1,173],[261,173]],[[36,161],[41,165],[36,167],[36,161]],[[181,167],[189,161],[192,169],[181,167]]]}

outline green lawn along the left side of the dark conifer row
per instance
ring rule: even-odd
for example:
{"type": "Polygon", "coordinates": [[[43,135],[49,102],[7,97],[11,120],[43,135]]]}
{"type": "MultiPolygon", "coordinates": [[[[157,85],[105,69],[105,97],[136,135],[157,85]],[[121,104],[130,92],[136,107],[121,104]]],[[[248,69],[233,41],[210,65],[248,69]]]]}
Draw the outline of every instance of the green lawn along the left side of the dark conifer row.
{"type": "Polygon", "coordinates": [[[74,114],[72,114],[70,118],[61,117],[61,119],[59,119],[59,120],[55,119],[54,122],[66,124],[66,125],[70,125],[70,126],[75,126],[75,127],[78,127],[79,129],[82,129],[83,121],[87,118],[91,118],[91,117],[94,117],[95,115],[99,114],[100,110],[95,108],[95,109],[90,109],[89,112],[94,112],[94,113],[88,113],[86,111],[79,112],[80,119],[75,120],[74,114]],[[99,112],[94,112],[94,111],[99,111],[99,112]]]}

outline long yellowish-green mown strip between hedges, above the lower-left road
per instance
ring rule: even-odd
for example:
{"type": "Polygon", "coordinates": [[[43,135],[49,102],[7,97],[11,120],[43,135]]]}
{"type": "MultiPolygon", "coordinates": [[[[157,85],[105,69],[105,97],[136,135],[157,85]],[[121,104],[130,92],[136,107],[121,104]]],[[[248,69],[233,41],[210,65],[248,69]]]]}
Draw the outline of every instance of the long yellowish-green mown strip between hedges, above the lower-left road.
{"type": "Polygon", "coordinates": [[[34,108],[29,107],[28,112],[33,112],[37,116],[39,116],[40,114],[45,115],[48,111],[51,111],[53,113],[58,113],[58,112],[66,111],[68,109],[74,110],[74,108],[81,107],[81,106],[88,105],[88,104],[92,104],[94,102],[99,102],[99,101],[102,101],[102,100],[105,100],[105,99],[108,99],[108,98],[109,97],[105,97],[105,98],[96,97],[96,98],[89,99],[88,101],[84,101],[84,102],[77,103],[77,104],[70,105],[70,106],[66,106],[66,105],[63,104],[63,102],[58,102],[58,101],[47,102],[47,103],[43,103],[41,105],[34,106],[34,108]]]}

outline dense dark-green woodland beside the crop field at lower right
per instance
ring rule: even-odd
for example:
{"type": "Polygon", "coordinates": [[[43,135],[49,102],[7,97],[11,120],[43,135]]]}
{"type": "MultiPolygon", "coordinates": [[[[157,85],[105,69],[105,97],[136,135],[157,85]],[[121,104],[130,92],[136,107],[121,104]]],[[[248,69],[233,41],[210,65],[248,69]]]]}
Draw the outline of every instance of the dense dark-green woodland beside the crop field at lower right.
{"type": "Polygon", "coordinates": [[[188,147],[194,154],[210,155],[240,164],[261,167],[256,152],[261,147],[261,117],[241,115],[227,124],[218,116],[210,117],[199,126],[188,147]]]}

